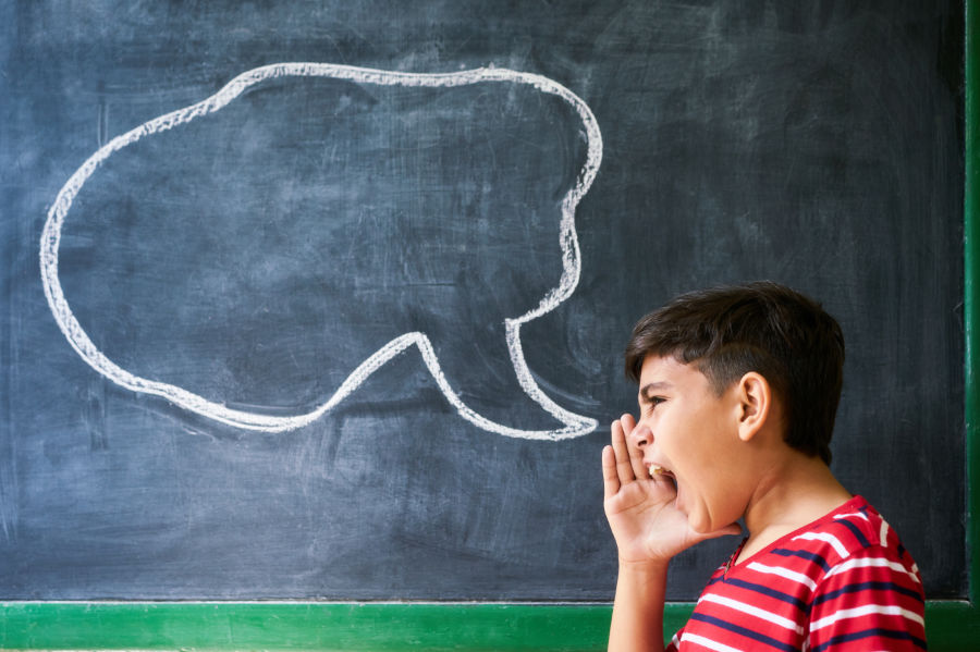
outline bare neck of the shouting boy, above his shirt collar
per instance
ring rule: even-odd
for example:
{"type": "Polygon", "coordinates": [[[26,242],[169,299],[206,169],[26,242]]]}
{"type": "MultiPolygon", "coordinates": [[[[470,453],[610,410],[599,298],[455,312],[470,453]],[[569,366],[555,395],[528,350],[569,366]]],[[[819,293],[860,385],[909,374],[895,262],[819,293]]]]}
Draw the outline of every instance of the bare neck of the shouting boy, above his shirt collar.
{"type": "Polygon", "coordinates": [[[822,459],[794,451],[762,470],[745,510],[749,537],[738,561],[833,512],[852,497],[822,459]]]}

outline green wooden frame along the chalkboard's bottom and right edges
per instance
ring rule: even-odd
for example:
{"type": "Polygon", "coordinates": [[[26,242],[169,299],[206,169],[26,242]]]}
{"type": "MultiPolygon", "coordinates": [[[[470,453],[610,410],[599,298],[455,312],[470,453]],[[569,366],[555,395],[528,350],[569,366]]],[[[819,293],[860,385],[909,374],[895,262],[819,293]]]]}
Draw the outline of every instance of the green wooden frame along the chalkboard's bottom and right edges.
{"type": "MultiPolygon", "coordinates": [[[[964,321],[968,600],[926,606],[932,650],[980,650],[980,0],[966,0],[964,321]]],[[[0,564],[2,564],[0,559],[0,564]]],[[[666,607],[675,631],[693,608],[666,607]]],[[[7,602],[22,650],[604,650],[609,604],[7,602]]]]}

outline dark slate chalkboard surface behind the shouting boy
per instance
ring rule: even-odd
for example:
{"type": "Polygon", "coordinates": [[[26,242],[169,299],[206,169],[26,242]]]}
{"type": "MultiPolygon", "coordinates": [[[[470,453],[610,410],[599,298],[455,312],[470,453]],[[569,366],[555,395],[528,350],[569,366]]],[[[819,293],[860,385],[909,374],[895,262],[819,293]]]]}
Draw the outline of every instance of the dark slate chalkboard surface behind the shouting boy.
{"type": "Polygon", "coordinates": [[[834,470],[966,594],[960,2],[0,25],[0,600],[608,601],[632,324],[761,278],[843,325],[834,470]]]}

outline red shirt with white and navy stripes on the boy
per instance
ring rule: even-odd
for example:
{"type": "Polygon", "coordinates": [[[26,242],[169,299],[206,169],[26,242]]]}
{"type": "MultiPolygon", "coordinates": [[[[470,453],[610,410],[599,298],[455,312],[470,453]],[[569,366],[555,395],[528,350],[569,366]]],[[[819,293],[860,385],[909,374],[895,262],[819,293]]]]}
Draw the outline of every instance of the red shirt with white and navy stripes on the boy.
{"type": "Polygon", "coordinates": [[[714,571],[669,651],[924,650],[919,569],[862,497],[714,571]]]}

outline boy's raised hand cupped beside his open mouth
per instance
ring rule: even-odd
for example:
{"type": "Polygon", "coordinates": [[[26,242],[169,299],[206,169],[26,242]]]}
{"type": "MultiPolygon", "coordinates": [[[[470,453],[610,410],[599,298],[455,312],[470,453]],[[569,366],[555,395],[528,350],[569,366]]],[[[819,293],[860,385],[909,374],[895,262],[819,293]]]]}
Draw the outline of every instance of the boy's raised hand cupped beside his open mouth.
{"type": "Polygon", "coordinates": [[[737,525],[716,532],[690,529],[687,515],[677,508],[677,491],[666,478],[651,478],[644,467],[642,451],[629,444],[636,428],[630,415],[612,425],[612,445],[602,451],[605,481],[605,517],[609,519],[621,563],[666,564],[674,555],[723,534],[737,534],[737,525]]]}

